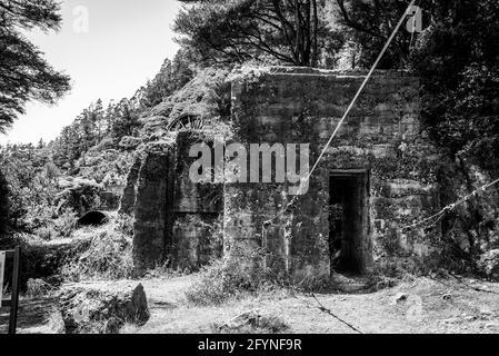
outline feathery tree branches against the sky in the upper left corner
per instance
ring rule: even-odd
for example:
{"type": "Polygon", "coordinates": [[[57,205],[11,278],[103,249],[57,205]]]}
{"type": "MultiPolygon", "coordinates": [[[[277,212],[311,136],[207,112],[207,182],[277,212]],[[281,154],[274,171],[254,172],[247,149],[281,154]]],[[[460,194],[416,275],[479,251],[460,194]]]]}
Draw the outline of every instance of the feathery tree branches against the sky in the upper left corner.
{"type": "Polygon", "coordinates": [[[24,113],[26,103],[53,103],[70,89],[69,77],[56,71],[22,30],[58,30],[60,6],[54,0],[0,0],[0,131],[24,113]]]}

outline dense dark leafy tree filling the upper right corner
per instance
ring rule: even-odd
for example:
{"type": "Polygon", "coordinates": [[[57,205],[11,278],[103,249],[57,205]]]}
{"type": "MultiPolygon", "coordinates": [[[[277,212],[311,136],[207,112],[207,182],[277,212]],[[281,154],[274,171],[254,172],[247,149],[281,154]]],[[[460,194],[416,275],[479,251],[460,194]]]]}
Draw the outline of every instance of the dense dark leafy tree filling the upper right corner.
{"type": "Polygon", "coordinates": [[[431,17],[412,53],[425,122],[453,157],[499,171],[499,3],[449,0],[431,17]]]}

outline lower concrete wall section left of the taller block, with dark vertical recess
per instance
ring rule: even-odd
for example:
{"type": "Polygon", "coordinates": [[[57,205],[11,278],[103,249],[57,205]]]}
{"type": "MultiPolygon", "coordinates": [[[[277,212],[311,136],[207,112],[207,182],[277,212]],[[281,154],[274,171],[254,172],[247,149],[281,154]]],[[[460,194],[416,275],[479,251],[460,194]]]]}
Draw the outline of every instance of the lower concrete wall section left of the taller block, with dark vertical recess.
{"type": "Polygon", "coordinates": [[[133,261],[137,274],[162,266],[196,269],[221,257],[217,221],[222,187],[196,185],[189,168],[194,132],[172,142],[152,142],[136,155],[120,214],[133,217],[133,261]]]}

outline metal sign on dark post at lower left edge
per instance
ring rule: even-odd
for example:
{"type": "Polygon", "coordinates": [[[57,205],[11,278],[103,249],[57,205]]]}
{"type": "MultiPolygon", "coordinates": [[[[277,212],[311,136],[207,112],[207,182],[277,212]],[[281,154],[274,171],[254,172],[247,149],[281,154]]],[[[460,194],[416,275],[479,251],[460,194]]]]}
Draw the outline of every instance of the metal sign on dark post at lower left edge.
{"type": "Polygon", "coordinates": [[[16,247],[11,251],[0,253],[0,307],[10,307],[9,318],[9,334],[16,334],[18,324],[18,308],[19,308],[19,276],[21,267],[21,249],[16,247]],[[3,277],[6,270],[6,260],[13,259],[12,263],[12,285],[10,299],[3,300],[3,277]]]}

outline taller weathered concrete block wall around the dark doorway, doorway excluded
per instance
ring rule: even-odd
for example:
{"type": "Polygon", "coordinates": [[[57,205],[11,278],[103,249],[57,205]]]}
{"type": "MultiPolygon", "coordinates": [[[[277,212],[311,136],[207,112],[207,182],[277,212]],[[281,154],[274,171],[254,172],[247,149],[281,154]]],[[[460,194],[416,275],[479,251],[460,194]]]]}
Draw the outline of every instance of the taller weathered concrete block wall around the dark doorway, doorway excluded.
{"type": "MultiPolygon", "coordinates": [[[[240,73],[232,83],[234,140],[310,144],[312,166],[363,78],[300,69],[240,73]]],[[[361,247],[367,256],[363,269],[392,257],[429,256],[425,238],[431,239],[431,234],[401,231],[439,207],[435,177],[439,158],[419,125],[418,88],[418,79],[405,73],[377,73],[312,176],[308,194],[271,225],[266,227],[266,221],[281,214],[292,198],[286,195],[286,184],[227,185],[229,255],[249,268],[270,259],[279,271],[288,269],[297,278],[329,276],[331,172],[365,170],[369,214],[361,247]]]]}

